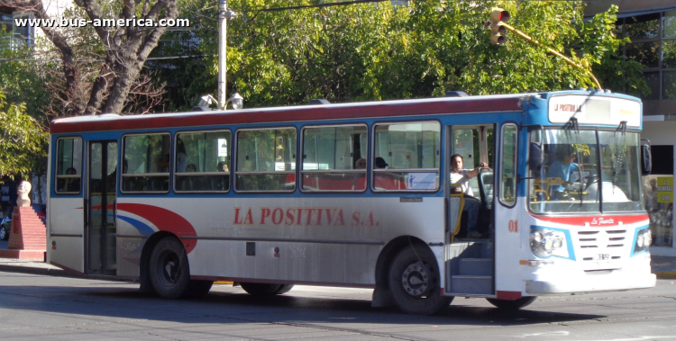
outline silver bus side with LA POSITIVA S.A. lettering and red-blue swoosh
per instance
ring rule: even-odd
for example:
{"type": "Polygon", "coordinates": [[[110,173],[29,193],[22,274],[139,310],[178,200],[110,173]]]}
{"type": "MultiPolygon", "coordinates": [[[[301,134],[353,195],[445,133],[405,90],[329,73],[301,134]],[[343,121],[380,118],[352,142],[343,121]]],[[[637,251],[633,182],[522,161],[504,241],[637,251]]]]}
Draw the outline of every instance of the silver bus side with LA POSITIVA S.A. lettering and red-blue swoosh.
{"type": "MultiPolygon", "coordinates": [[[[380,250],[393,238],[443,243],[442,197],[143,199],[155,208],[136,210],[141,200],[118,200],[119,233],[150,236],[162,229],[185,237],[196,276],[368,286],[375,283],[380,250]]],[[[118,264],[121,275],[132,274],[134,255],[140,256],[141,239],[129,239],[118,247],[128,255],[118,264]]]]}

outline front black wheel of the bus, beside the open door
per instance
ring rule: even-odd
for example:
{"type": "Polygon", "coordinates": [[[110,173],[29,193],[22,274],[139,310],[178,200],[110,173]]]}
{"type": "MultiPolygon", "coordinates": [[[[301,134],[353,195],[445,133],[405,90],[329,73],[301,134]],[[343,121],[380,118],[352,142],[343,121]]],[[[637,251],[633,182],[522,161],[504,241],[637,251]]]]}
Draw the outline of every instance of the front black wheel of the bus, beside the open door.
{"type": "Polygon", "coordinates": [[[453,299],[442,295],[436,258],[422,245],[406,247],[394,257],[388,280],[397,307],[408,314],[431,315],[453,299]]]}

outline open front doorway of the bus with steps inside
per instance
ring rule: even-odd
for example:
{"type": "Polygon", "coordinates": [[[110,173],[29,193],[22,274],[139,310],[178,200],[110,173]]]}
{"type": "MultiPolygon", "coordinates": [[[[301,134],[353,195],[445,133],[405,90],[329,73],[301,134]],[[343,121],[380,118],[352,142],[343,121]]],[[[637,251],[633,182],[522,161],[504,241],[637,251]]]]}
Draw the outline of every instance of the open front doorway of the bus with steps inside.
{"type": "Polygon", "coordinates": [[[446,127],[446,167],[445,191],[447,198],[447,229],[445,253],[445,285],[444,290],[450,295],[491,296],[494,286],[494,183],[496,149],[494,139],[495,125],[474,124],[446,127]],[[479,175],[470,179],[468,193],[455,193],[452,189],[459,184],[452,184],[450,172],[454,155],[460,155],[464,169],[474,169],[481,163],[490,168],[483,168],[479,175]],[[469,194],[471,193],[471,194],[469,194]],[[469,195],[474,198],[469,198],[469,195]],[[470,200],[479,203],[477,212],[463,211],[462,206],[470,200]],[[477,214],[474,233],[468,233],[470,217],[477,214]]]}

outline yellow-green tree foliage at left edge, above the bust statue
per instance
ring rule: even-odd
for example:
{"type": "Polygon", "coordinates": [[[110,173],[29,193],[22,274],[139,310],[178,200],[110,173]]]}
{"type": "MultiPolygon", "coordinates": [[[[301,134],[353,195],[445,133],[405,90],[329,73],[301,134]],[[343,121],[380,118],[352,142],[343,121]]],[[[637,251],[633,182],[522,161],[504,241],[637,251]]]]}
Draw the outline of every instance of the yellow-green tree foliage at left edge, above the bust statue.
{"type": "Polygon", "coordinates": [[[29,175],[44,166],[48,133],[25,111],[24,103],[7,103],[0,89],[0,175],[29,175]]]}

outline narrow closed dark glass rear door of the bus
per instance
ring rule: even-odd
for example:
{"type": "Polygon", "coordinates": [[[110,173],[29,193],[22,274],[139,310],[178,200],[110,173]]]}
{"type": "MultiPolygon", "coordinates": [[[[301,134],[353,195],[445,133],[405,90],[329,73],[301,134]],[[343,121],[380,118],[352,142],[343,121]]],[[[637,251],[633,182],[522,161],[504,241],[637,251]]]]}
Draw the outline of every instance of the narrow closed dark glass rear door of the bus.
{"type": "Polygon", "coordinates": [[[114,275],[117,141],[92,141],[88,151],[86,273],[114,275]]]}

